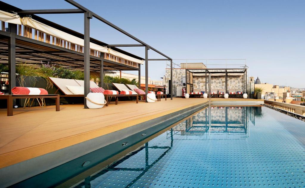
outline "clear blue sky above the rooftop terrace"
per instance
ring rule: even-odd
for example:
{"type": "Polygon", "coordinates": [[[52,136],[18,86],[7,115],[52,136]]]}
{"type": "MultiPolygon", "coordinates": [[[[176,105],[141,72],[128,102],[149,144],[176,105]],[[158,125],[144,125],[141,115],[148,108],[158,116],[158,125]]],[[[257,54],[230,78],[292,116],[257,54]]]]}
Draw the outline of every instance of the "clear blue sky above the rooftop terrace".
{"type": "MultiPolygon", "coordinates": [[[[74,8],[63,0],[3,1],[21,9],[74,8]]],[[[250,76],[262,82],[305,87],[303,0],[77,2],[173,59],[246,59],[250,76]]],[[[83,33],[81,14],[39,16],[83,33]]],[[[91,20],[90,35],[109,44],[136,43],[97,19],[91,20]]],[[[144,57],[144,47],[122,49],[144,57]]],[[[149,58],[162,57],[150,50],[149,58]]],[[[160,79],[165,67],[165,62],[149,62],[149,76],[160,79]]]]}

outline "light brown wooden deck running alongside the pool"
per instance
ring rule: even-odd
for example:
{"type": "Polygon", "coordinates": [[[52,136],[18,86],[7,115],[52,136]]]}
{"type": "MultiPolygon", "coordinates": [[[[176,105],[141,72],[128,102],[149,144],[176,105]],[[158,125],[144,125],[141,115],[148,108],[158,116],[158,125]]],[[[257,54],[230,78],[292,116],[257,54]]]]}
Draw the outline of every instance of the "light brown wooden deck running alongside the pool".
{"type": "MultiPolygon", "coordinates": [[[[213,100],[222,100],[213,98],[213,100]]],[[[226,100],[249,100],[230,98],[226,100]]],[[[6,116],[0,109],[0,168],[54,152],[117,130],[208,101],[204,98],[161,99],[155,103],[124,101],[100,109],[83,105],[14,109],[6,116]]]]}

